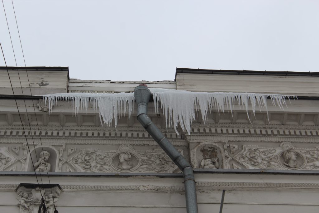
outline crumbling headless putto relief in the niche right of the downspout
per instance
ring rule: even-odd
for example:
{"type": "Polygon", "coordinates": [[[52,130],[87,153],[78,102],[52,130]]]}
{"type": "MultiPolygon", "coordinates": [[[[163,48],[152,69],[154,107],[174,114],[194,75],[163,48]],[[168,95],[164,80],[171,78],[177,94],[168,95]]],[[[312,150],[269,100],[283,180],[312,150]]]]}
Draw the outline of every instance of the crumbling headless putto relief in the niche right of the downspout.
{"type": "Polygon", "coordinates": [[[217,160],[217,150],[215,147],[201,148],[203,159],[200,162],[200,169],[218,169],[219,163],[217,160]]]}

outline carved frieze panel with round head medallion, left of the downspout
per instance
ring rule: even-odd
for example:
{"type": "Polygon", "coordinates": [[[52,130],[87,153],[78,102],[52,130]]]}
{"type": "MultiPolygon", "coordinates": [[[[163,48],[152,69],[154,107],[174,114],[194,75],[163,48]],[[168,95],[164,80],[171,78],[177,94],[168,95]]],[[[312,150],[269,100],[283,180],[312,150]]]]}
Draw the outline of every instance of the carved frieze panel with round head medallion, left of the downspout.
{"type": "MultiPolygon", "coordinates": [[[[179,150],[182,154],[183,151],[179,150]]],[[[67,162],[77,172],[176,173],[178,167],[161,149],[134,150],[122,144],[118,150],[80,148],[67,162]]],[[[69,167],[69,171],[72,169],[69,167]]]]}

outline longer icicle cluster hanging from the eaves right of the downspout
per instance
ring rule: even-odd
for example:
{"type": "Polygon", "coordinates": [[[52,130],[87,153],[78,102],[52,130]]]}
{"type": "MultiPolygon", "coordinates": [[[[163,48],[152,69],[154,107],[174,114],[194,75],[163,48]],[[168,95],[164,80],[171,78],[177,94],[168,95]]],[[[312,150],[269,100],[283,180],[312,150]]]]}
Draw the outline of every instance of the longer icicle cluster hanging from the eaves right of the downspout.
{"type": "MultiPolygon", "coordinates": [[[[230,110],[233,114],[234,104],[237,103],[239,108],[243,107],[246,110],[247,117],[249,118],[249,106],[251,106],[252,112],[255,115],[256,106],[264,108],[267,112],[267,97],[271,98],[271,102],[274,106],[279,106],[283,109],[286,105],[286,98],[295,98],[296,96],[288,95],[275,95],[275,94],[256,94],[256,93],[207,93],[207,92],[189,92],[185,90],[174,89],[159,89],[150,88],[154,101],[155,113],[158,114],[159,102],[165,115],[165,120],[168,126],[174,126],[175,132],[178,134],[177,126],[181,126],[183,131],[187,131],[190,134],[190,125],[195,119],[195,108],[199,108],[204,123],[207,120],[208,113],[211,113],[213,107],[219,112],[225,112],[225,106],[227,110],[230,110]],[[235,101],[236,100],[236,101],[235,101]],[[250,104],[249,104],[250,101],[250,104]]],[[[268,118],[269,120],[269,118],[268,118]]]]}

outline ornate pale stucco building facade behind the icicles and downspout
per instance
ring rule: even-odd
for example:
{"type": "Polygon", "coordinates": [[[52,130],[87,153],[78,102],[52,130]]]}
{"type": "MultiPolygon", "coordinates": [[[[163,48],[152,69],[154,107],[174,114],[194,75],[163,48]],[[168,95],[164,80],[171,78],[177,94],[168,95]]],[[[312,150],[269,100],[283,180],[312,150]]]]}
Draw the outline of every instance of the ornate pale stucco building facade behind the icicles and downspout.
{"type": "Polygon", "coordinates": [[[60,101],[49,113],[41,96],[132,92],[140,83],[297,95],[284,109],[269,100],[268,113],[256,110],[249,118],[239,106],[233,113],[214,111],[206,123],[198,115],[190,135],[167,129],[152,102],[148,112],[193,166],[199,212],[218,212],[223,189],[223,212],[317,212],[318,73],[177,68],[174,81],[146,82],[76,80],[65,67],[29,67],[29,85],[26,68],[19,68],[18,76],[10,67],[13,96],[6,68],[0,71],[1,212],[35,212],[39,194],[47,195],[50,211],[55,201],[60,213],[186,212],[181,171],[136,120],[136,108],[131,116],[120,116],[116,128],[107,127],[93,107],[75,116],[72,104],[60,101]],[[33,167],[39,183],[49,184],[49,176],[51,185],[37,189],[33,167]]]}

